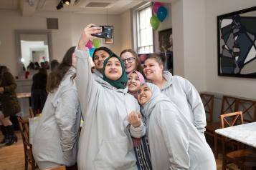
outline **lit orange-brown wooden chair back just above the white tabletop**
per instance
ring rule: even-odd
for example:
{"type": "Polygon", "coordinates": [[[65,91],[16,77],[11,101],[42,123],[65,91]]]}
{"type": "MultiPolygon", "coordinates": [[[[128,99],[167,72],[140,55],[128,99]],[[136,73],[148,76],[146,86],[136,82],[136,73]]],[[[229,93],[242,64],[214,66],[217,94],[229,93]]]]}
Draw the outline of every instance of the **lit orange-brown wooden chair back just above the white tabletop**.
{"type": "Polygon", "coordinates": [[[221,123],[220,125],[222,128],[237,125],[238,121],[240,121],[240,124],[244,124],[242,111],[232,112],[229,114],[221,114],[219,117],[221,123]]]}

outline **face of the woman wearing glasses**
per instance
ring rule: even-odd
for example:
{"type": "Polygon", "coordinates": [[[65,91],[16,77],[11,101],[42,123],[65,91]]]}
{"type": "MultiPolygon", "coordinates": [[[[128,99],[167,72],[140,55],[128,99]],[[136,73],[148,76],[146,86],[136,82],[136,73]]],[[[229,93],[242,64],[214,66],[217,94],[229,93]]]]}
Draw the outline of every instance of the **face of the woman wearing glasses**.
{"type": "Polygon", "coordinates": [[[136,59],[130,52],[125,52],[121,55],[123,64],[125,64],[125,72],[130,73],[136,69],[136,59]]]}

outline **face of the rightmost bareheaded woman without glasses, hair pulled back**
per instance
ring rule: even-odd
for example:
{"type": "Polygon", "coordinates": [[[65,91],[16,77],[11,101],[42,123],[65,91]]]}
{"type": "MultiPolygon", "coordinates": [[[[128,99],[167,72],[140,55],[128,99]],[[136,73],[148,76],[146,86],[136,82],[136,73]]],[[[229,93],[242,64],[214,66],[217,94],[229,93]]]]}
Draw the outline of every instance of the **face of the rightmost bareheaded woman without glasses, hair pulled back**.
{"type": "Polygon", "coordinates": [[[158,64],[156,59],[147,59],[143,65],[143,73],[146,79],[154,81],[163,75],[163,65],[158,64]]]}

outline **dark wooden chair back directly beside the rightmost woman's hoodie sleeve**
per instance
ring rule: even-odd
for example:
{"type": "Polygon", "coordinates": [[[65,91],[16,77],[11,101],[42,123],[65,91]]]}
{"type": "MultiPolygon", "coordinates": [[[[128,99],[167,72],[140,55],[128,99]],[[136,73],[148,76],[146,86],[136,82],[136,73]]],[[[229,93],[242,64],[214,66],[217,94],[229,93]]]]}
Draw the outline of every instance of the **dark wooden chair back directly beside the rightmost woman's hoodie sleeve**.
{"type": "Polygon", "coordinates": [[[202,93],[200,94],[200,96],[204,104],[204,111],[207,116],[207,122],[212,122],[214,109],[214,95],[202,93]]]}

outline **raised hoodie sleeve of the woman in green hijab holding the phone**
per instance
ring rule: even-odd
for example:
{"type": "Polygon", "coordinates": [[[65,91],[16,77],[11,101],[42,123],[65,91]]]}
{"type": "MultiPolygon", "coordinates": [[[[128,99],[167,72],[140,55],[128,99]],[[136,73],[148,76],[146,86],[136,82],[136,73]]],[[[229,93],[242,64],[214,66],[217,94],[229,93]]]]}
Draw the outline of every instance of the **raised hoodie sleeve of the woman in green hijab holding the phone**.
{"type": "Polygon", "coordinates": [[[82,108],[82,117],[85,119],[87,114],[89,101],[96,99],[95,95],[98,91],[99,84],[94,81],[90,66],[89,51],[75,49],[77,56],[77,93],[82,108]]]}

